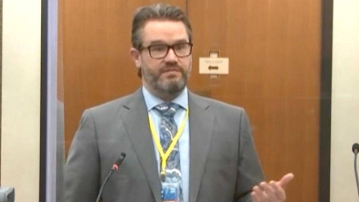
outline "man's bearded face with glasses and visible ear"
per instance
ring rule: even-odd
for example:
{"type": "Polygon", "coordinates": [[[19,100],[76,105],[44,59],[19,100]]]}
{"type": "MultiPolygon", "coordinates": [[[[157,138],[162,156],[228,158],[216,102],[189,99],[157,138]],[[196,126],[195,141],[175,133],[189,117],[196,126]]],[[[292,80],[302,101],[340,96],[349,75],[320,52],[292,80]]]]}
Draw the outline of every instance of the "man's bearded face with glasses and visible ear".
{"type": "Polygon", "coordinates": [[[149,20],[141,38],[145,48],[140,52],[131,49],[131,55],[137,68],[141,68],[144,85],[169,95],[182,91],[190,77],[192,64],[192,56],[186,52],[191,46],[183,22],[149,20]],[[174,47],[167,52],[167,46],[174,47]]]}

